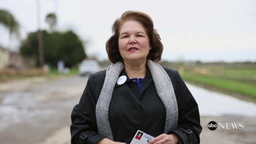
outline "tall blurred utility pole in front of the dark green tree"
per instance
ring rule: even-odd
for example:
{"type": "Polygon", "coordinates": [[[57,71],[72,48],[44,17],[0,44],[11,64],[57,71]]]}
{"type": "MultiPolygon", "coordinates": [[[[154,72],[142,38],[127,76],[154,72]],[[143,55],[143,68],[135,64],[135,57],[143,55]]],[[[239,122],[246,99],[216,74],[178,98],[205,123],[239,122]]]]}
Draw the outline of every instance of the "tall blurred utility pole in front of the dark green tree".
{"type": "Polygon", "coordinates": [[[38,50],[39,50],[39,64],[40,67],[44,65],[44,46],[43,46],[43,36],[42,31],[40,29],[40,2],[39,0],[36,1],[37,4],[37,25],[38,25],[38,50]]]}

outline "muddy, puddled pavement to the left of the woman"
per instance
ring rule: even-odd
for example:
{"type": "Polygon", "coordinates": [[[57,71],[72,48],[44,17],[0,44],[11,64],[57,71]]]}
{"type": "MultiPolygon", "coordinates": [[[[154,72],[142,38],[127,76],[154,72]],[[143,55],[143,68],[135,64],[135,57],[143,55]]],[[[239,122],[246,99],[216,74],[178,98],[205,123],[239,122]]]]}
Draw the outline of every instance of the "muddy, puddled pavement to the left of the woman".
{"type": "MultiPolygon", "coordinates": [[[[26,83],[23,89],[15,88],[21,83],[14,81],[6,83],[5,91],[0,91],[1,144],[39,143],[63,127],[69,130],[71,111],[83,93],[87,77],[69,77],[54,82],[22,81],[26,83]]],[[[70,141],[69,131],[65,134],[57,143],[63,138],[68,138],[65,142],[70,141]]]]}

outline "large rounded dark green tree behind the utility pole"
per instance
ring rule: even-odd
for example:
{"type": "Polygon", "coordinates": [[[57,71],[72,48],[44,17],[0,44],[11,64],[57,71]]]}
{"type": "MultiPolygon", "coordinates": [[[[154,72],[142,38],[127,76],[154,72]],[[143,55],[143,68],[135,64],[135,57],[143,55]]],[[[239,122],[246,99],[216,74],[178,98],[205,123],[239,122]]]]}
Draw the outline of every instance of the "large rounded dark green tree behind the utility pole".
{"type": "MultiPolygon", "coordinates": [[[[27,41],[23,41],[20,47],[20,53],[39,64],[37,33],[29,33],[27,41]]],[[[43,30],[42,35],[45,63],[56,67],[58,61],[63,60],[66,67],[72,67],[86,58],[83,43],[73,31],[47,33],[43,30]]]]}

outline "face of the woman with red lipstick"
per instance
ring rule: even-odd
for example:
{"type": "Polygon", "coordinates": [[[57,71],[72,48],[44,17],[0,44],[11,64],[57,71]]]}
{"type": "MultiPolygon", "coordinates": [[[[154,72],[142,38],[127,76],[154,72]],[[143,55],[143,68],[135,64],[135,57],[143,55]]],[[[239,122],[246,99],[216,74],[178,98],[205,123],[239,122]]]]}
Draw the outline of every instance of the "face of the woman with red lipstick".
{"type": "Polygon", "coordinates": [[[152,49],[144,27],[137,21],[127,21],[122,25],[118,46],[124,61],[146,60],[152,49]]]}

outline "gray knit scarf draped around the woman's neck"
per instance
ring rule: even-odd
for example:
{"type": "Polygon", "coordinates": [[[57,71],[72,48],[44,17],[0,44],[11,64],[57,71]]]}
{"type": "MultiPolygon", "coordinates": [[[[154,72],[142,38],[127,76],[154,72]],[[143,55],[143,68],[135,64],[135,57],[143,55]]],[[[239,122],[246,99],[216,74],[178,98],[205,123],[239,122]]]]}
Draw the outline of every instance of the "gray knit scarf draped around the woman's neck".
{"type": "MultiPolygon", "coordinates": [[[[164,133],[167,134],[178,127],[178,106],[173,85],[166,71],[157,62],[147,60],[147,65],[152,75],[156,92],[166,109],[164,133]]],[[[124,65],[122,62],[112,63],[107,68],[105,81],[95,110],[98,133],[111,140],[114,140],[114,138],[108,119],[108,109],[114,86],[123,69],[124,65]]]]}

